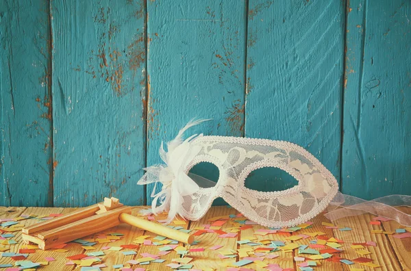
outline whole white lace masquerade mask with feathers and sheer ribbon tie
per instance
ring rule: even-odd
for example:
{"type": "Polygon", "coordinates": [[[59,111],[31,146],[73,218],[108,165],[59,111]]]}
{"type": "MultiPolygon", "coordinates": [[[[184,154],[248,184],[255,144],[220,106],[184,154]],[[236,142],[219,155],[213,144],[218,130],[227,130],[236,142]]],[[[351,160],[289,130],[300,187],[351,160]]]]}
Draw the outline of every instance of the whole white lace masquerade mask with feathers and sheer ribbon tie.
{"type": "MultiPolygon", "coordinates": [[[[153,214],[169,211],[168,222],[177,214],[189,220],[199,220],[210,209],[214,199],[221,197],[245,217],[262,226],[293,227],[314,218],[336,196],[338,183],[331,172],[296,144],[202,134],[182,139],[186,129],[202,121],[189,122],[174,140],[167,143],[167,152],[161,144],[160,157],[165,165],[145,168],[147,172],[138,181],[140,185],[155,183],[151,194],[153,214]],[[200,162],[210,162],[219,168],[217,183],[188,173],[200,162]],[[264,167],[288,172],[297,179],[298,185],[277,192],[246,188],[245,179],[249,173],[264,167]],[[158,182],[162,183],[162,190],[156,193],[158,182]]],[[[332,220],[359,214],[360,209],[373,214],[382,210],[375,204],[370,207],[358,198],[339,192],[330,207],[334,211],[327,215],[332,220]],[[353,205],[344,210],[335,209],[344,201],[353,205]]],[[[386,207],[383,214],[393,214],[394,208],[386,207]]],[[[411,221],[410,216],[402,218],[400,223],[411,221]]]]}

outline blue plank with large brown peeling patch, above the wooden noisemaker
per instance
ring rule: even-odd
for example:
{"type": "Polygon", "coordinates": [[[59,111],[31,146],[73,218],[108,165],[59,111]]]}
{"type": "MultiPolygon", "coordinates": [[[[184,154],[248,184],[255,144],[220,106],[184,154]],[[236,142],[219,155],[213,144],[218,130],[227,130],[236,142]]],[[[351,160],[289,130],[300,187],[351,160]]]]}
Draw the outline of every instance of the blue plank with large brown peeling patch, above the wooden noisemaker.
{"type": "Polygon", "coordinates": [[[145,1],[52,1],[54,203],[141,205],[145,1]]]}

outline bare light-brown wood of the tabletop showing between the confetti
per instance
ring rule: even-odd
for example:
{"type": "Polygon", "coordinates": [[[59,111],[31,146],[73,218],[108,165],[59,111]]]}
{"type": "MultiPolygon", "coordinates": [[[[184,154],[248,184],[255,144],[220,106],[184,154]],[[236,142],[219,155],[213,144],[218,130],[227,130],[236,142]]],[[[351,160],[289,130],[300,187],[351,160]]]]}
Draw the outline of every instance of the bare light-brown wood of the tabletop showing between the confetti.
{"type": "MultiPolygon", "coordinates": [[[[142,207],[135,207],[133,214],[137,214],[138,210],[142,207]]],[[[408,212],[411,214],[410,207],[400,207],[403,211],[408,212]]],[[[67,214],[70,211],[73,211],[75,208],[39,208],[39,207],[0,207],[0,218],[16,218],[21,216],[22,214],[25,215],[32,215],[36,214],[38,216],[41,215],[49,215],[49,214],[67,214]]],[[[186,224],[187,229],[195,229],[195,227],[199,227],[203,224],[210,224],[208,221],[209,218],[215,216],[225,216],[229,214],[238,214],[238,211],[234,208],[229,207],[212,207],[208,214],[203,217],[199,221],[192,221],[186,224]]],[[[366,255],[364,257],[369,257],[373,261],[373,263],[377,263],[381,268],[369,268],[366,266],[361,266],[359,263],[355,263],[351,266],[348,266],[345,263],[334,262],[334,261],[327,261],[321,260],[321,266],[314,267],[314,270],[350,270],[350,268],[362,268],[364,270],[411,270],[411,237],[397,239],[394,238],[392,235],[384,235],[384,234],[374,234],[371,233],[373,229],[384,229],[385,231],[395,231],[395,229],[404,228],[401,227],[397,222],[389,221],[389,222],[382,222],[381,226],[378,225],[371,225],[369,222],[372,218],[375,217],[370,214],[364,214],[362,216],[354,216],[351,218],[343,218],[337,220],[336,225],[349,227],[351,231],[339,231],[338,229],[326,229],[321,223],[322,222],[329,222],[324,216],[320,215],[316,218],[312,219],[311,221],[314,222],[312,228],[310,229],[303,229],[297,231],[295,233],[290,233],[293,235],[299,235],[301,233],[308,233],[308,232],[316,232],[322,231],[326,233],[328,237],[336,237],[339,240],[343,240],[345,244],[343,244],[344,252],[340,253],[340,257],[344,259],[356,259],[360,257],[353,248],[351,248],[351,244],[353,242],[367,242],[373,241],[377,244],[377,246],[368,246],[366,247],[367,250],[371,252],[371,255],[366,255]]],[[[158,219],[164,218],[164,216],[160,216],[158,219]]],[[[38,220],[29,219],[29,220],[22,220],[21,221],[25,225],[34,224],[38,222],[38,220]]],[[[226,223],[221,228],[223,231],[228,227],[232,227],[232,224],[226,223]]],[[[199,240],[200,243],[195,246],[195,248],[205,248],[203,252],[192,252],[189,253],[190,257],[193,260],[190,262],[194,265],[193,268],[197,270],[206,270],[206,268],[214,268],[215,270],[225,270],[221,264],[230,263],[237,261],[238,258],[234,259],[220,259],[218,255],[220,254],[219,251],[223,249],[233,249],[236,250],[241,247],[245,247],[246,245],[238,245],[236,242],[240,240],[241,237],[252,236],[253,232],[257,229],[262,229],[264,227],[260,227],[258,225],[254,225],[253,229],[245,229],[238,233],[236,238],[219,238],[217,234],[214,233],[206,233],[200,235],[196,238],[199,240]],[[223,248],[219,250],[210,250],[208,248],[221,245],[223,248]]],[[[140,236],[140,235],[151,235],[155,236],[149,232],[144,232],[142,230],[137,229],[136,227],[131,227],[127,224],[121,224],[118,227],[112,229],[114,232],[124,233],[125,236],[116,242],[110,243],[110,246],[120,246],[121,244],[133,244],[133,240],[140,236]]],[[[21,233],[20,231],[15,232],[15,237],[12,239],[16,240],[18,244],[11,245],[10,250],[8,252],[18,252],[18,249],[23,246],[23,242],[21,242],[21,233]]],[[[279,235],[279,234],[269,234],[265,236],[255,235],[259,240],[268,239],[268,240],[282,240],[285,242],[290,242],[285,238],[287,235],[279,235]]],[[[294,241],[297,244],[309,244],[310,240],[316,239],[315,237],[309,237],[306,240],[297,240],[294,241]]],[[[92,251],[99,251],[101,247],[105,246],[106,244],[96,244],[95,250],[88,250],[87,252],[92,251]]],[[[38,268],[38,270],[80,270],[80,268],[75,268],[75,266],[66,266],[66,262],[69,261],[66,257],[70,255],[77,255],[80,253],[86,253],[86,250],[80,246],[80,244],[76,243],[69,243],[66,247],[69,251],[66,253],[58,253],[53,250],[36,250],[36,253],[32,253],[29,255],[28,259],[30,261],[45,261],[45,257],[54,257],[55,261],[51,261],[49,266],[42,266],[38,268]]],[[[190,246],[188,246],[190,248],[190,246]]],[[[151,253],[153,255],[158,254],[158,246],[140,246],[138,250],[136,250],[136,255],[129,255],[125,256],[121,251],[110,251],[104,250],[105,256],[102,257],[102,262],[105,263],[108,267],[103,268],[102,270],[114,270],[112,268],[115,264],[124,264],[124,266],[129,266],[126,261],[131,259],[138,259],[142,257],[140,253],[151,253]]],[[[278,263],[281,268],[294,268],[295,270],[299,270],[298,266],[296,266],[296,262],[293,260],[295,256],[308,256],[308,255],[298,255],[297,249],[294,250],[292,253],[283,253],[281,250],[277,251],[276,253],[279,255],[276,259],[264,259],[266,263],[278,263]],[[298,268],[298,269],[297,269],[298,268]]],[[[165,265],[171,263],[171,259],[175,259],[179,257],[175,251],[172,250],[169,255],[162,256],[162,259],[166,259],[164,263],[150,263],[147,266],[139,266],[139,265],[132,265],[132,268],[146,268],[147,270],[171,270],[171,268],[166,267],[165,265]]],[[[4,263],[14,263],[14,261],[10,257],[0,257],[0,264],[4,263]]],[[[256,266],[256,263],[250,263],[245,268],[250,268],[253,270],[266,270],[264,268],[259,268],[256,266]]]]}

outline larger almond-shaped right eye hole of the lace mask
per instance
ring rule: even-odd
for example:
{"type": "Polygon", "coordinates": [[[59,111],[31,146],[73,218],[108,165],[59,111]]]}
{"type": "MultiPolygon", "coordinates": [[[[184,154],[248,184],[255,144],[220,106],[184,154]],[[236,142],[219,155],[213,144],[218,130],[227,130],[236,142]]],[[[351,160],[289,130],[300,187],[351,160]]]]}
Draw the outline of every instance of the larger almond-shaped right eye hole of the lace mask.
{"type": "Polygon", "coordinates": [[[261,192],[287,190],[298,185],[298,181],[281,168],[264,167],[253,170],[245,179],[245,187],[261,192]]]}

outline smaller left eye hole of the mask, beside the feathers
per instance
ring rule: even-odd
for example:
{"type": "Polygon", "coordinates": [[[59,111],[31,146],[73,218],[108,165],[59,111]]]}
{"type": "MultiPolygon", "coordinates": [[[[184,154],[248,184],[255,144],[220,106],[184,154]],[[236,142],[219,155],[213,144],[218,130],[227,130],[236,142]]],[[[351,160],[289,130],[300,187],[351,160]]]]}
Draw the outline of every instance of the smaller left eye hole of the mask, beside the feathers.
{"type": "Polygon", "coordinates": [[[219,181],[220,170],[216,165],[209,162],[200,162],[193,166],[188,172],[200,188],[213,188],[219,181]]]}

